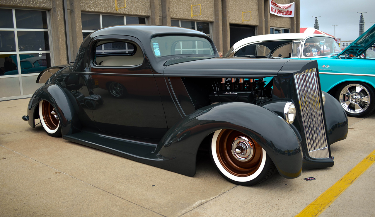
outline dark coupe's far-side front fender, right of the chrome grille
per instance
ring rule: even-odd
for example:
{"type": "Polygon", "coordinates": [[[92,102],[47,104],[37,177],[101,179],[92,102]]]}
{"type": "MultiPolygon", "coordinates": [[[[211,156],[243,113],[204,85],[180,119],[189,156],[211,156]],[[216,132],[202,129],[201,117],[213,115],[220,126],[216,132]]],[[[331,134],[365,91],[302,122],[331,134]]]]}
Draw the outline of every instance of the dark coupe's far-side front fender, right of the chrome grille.
{"type": "Polygon", "coordinates": [[[324,95],[326,96],[324,113],[326,114],[328,144],[331,145],[347,138],[348,116],[337,99],[326,92],[324,95]]]}

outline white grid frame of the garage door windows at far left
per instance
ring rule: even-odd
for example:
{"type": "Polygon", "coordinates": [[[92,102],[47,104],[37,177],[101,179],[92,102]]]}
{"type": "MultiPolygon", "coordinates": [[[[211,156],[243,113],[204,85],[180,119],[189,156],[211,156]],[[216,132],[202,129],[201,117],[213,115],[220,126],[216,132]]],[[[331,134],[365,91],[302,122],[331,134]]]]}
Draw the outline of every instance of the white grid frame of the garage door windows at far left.
{"type": "MultiPolygon", "coordinates": [[[[9,32],[14,32],[14,40],[15,40],[15,51],[4,51],[4,52],[0,52],[0,55],[3,56],[3,55],[16,55],[16,58],[17,58],[17,70],[18,70],[18,74],[14,74],[14,75],[0,75],[0,79],[1,78],[14,78],[14,77],[19,77],[19,82],[20,82],[20,95],[17,95],[17,96],[6,96],[6,97],[1,97],[0,98],[0,101],[2,100],[8,100],[8,99],[18,99],[18,98],[25,98],[25,97],[29,97],[31,96],[31,94],[27,94],[27,95],[24,95],[24,91],[23,91],[23,86],[25,84],[22,83],[22,77],[30,77],[30,76],[37,76],[37,72],[36,73],[28,73],[28,74],[21,74],[21,59],[20,59],[20,55],[22,54],[39,54],[39,55],[42,55],[42,54],[49,54],[49,63],[51,66],[54,65],[54,55],[53,55],[53,51],[52,51],[52,33],[51,33],[51,20],[50,20],[50,12],[48,10],[43,10],[43,9],[33,9],[33,8],[6,8],[6,7],[0,7],[0,9],[10,9],[12,10],[12,18],[13,18],[13,28],[0,28],[0,31],[9,31],[9,32]],[[15,11],[16,10],[24,10],[24,11],[43,11],[46,13],[46,24],[47,24],[47,28],[46,29],[39,29],[39,28],[34,28],[34,29],[28,29],[28,28],[24,28],[24,29],[21,29],[21,28],[17,28],[17,20],[16,20],[16,13],[15,11]],[[47,32],[47,36],[48,36],[48,44],[49,44],[49,48],[48,50],[34,50],[34,51],[20,51],[20,47],[19,47],[19,44],[18,44],[18,41],[19,41],[19,38],[18,38],[18,32],[47,32]]],[[[47,65],[48,67],[48,65],[47,65]]]]}

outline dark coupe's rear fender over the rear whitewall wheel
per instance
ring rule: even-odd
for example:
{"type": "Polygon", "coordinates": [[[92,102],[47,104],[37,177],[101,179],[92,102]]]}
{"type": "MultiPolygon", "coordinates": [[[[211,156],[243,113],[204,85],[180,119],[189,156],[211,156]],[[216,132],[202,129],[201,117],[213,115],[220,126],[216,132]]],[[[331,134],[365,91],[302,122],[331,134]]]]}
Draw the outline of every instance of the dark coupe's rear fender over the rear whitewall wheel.
{"type": "Polygon", "coordinates": [[[65,91],[56,84],[47,84],[40,87],[31,97],[27,107],[27,115],[29,116],[28,124],[32,128],[35,127],[34,119],[39,118],[38,105],[42,100],[48,101],[57,110],[63,136],[80,131],[77,101],[68,90],[65,91]]]}

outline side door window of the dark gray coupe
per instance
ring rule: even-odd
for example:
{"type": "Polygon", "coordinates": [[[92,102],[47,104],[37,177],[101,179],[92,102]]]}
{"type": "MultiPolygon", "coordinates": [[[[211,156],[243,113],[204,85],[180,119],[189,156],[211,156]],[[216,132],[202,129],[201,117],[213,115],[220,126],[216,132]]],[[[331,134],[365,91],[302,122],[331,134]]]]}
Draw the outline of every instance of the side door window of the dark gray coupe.
{"type": "Polygon", "coordinates": [[[95,44],[94,65],[136,66],[143,63],[139,45],[127,41],[100,41],[95,44]]]}

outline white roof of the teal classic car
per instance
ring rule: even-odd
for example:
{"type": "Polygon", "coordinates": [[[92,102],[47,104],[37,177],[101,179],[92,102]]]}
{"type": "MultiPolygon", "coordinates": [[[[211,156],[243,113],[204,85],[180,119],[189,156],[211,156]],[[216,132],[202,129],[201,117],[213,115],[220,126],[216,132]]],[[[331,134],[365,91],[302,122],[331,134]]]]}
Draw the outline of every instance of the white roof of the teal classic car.
{"type": "Polygon", "coordinates": [[[233,49],[237,50],[239,47],[242,47],[245,44],[251,44],[259,41],[277,41],[277,40],[302,40],[308,38],[309,36],[321,36],[332,38],[328,35],[322,34],[306,34],[306,33],[282,33],[282,34],[269,34],[269,35],[257,35],[244,38],[233,45],[233,49]]]}

